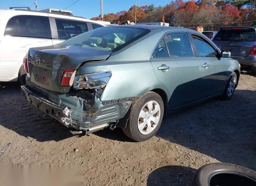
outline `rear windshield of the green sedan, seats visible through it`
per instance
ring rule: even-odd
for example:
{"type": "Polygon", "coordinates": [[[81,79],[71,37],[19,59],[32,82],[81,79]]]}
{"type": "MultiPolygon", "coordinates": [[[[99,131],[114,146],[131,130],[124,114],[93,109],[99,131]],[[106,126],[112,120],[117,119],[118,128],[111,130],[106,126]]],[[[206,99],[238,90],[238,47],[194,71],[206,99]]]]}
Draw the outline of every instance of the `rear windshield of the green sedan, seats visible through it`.
{"type": "Polygon", "coordinates": [[[117,51],[148,34],[148,32],[150,32],[150,30],[144,28],[102,27],[80,34],[70,40],[62,42],[61,45],[117,51]]]}

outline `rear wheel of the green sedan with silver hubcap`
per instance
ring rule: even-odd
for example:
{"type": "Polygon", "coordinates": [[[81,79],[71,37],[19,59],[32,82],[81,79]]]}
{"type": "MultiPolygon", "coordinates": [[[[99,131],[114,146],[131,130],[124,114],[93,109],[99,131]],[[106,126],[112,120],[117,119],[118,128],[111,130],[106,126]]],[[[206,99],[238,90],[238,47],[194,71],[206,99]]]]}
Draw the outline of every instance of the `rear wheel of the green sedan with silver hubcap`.
{"type": "Polygon", "coordinates": [[[162,123],[162,98],[157,93],[148,92],[134,101],[131,107],[128,123],[123,129],[124,134],[138,142],[150,139],[162,123]]]}

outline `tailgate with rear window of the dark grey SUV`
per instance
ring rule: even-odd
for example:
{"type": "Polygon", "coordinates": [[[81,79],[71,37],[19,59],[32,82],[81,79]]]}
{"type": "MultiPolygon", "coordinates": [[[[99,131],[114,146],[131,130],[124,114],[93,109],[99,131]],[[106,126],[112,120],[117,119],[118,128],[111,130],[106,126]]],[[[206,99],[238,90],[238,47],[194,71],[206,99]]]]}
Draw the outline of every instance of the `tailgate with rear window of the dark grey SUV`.
{"type": "Polygon", "coordinates": [[[214,43],[231,52],[231,56],[246,57],[256,42],[254,28],[222,28],[214,37],[214,43]]]}

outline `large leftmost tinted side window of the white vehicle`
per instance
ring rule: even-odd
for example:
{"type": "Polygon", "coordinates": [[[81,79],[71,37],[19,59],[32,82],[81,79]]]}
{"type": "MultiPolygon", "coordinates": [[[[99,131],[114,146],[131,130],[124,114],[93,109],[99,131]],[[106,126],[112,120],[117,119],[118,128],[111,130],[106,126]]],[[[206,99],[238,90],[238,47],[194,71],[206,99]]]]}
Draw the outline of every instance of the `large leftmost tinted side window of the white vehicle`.
{"type": "Polygon", "coordinates": [[[8,21],[4,35],[32,38],[52,38],[50,22],[44,16],[14,16],[8,21]]]}

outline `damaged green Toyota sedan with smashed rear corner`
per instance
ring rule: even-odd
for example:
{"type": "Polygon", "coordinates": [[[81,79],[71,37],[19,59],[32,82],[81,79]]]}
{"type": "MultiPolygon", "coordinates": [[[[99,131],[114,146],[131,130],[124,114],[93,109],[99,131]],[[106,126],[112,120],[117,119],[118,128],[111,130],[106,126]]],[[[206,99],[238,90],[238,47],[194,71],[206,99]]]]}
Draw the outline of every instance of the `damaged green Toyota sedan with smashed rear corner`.
{"type": "Polygon", "coordinates": [[[23,65],[24,97],[72,134],[119,127],[136,141],[154,136],[164,115],[230,99],[240,77],[238,61],[203,34],[154,25],[103,27],[31,48],[23,65]]]}

